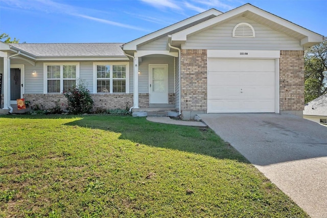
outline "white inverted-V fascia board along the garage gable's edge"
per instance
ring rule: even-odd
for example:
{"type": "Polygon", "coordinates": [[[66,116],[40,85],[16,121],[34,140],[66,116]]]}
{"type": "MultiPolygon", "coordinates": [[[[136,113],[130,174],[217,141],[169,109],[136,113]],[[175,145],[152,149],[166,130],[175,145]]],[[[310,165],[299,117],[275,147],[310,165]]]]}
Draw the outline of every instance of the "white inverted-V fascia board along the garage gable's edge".
{"type": "Polygon", "coordinates": [[[239,8],[236,8],[236,9],[233,9],[233,10],[230,10],[230,11],[227,11],[225,12],[224,14],[221,14],[217,17],[214,17],[212,19],[209,19],[209,20],[206,20],[206,21],[203,21],[203,23],[201,24],[198,24],[198,25],[195,25],[193,27],[190,27],[188,29],[185,29],[185,30],[182,30],[178,33],[174,33],[172,34],[172,41],[186,41],[186,37],[190,34],[193,34],[194,32],[197,32],[197,31],[200,31],[202,29],[205,29],[205,28],[211,28],[215,25],[217,25],[217,23],[221,22],[221,21],[224,21],[228,18],[232,18],[234,16],[238,16],[246,11],[249,11],[249,12],[252,12],[254,14],[257,14],[259,16],[262,16],[266,19],[269,19],[271,21],[273,21],[274,23],[277,23],[279,25],[282,25],[286,28],[289,28],[295,32],[298,32],[302,35],[306,35],[308,36],[308,41],[310,42],[311,40],[318,40],[318,41],[322,41],[322,35],[320,34],[317,34],[317,33],[314,33],[310,30],[307,30],[303,27],[300,27],[296,24],[293,24],[291,23],[290,21],[288,20],[285,20],[281,17],[278,17],[274,14],[271,14],[267,11],[264,11],[260,8],[257,8],[257,7],[254,7],[250,4],[246,4],[246,5],[243,5],[239,8]]]}

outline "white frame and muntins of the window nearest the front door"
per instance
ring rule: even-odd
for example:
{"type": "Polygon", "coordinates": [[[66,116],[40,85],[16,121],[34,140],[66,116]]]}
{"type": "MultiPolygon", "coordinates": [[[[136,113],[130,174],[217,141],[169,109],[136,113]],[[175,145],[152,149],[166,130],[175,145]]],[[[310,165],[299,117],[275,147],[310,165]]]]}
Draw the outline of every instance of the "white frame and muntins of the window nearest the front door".
{"type": "Polygon", "coordinates": [[[129,94],[129,62],[93,62],[93,94],[129,94]],[[99,92],[98,93],[98,77],[97,77],[97,66],[98,65],[104,65],[104,66],[110,66],[110,77],[109,78],[99,78],[99,79],[105,79],[109,80],[110,82],[110,90],[109,92],[99,92]],[[122,80],[124,78],[113,78],[113,66],[125,66],[126,69],[126,78],[125,78],[125,86],[126,91],[125,92],[113,92],[113,80],[122,80]]]}

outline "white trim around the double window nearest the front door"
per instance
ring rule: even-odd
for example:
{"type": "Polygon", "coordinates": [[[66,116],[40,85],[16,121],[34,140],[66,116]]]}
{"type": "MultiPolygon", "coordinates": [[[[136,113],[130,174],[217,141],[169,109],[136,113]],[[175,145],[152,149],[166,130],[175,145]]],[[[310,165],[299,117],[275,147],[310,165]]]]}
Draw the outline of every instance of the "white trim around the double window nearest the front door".
{"type": "MultiPolygon", "coordinates": [[[[97,92],[97,65],[109,65],[110,66],[110,92],[108,94],[129,94],[129,62],[93,62],[93,94],[98,94],[97,92]],[[112,66],[113,65],[125,65],[126,66],[126,92],[114,93],[113,89],[113,79],[112,79],[112,66]]],[[[117,78],[119,79],[119,78],[117,78]]],[[[99,93],[100,94],[100,93],[99,93]]],[[[103,94],[103,93],[102,93],[103,94]]]]}

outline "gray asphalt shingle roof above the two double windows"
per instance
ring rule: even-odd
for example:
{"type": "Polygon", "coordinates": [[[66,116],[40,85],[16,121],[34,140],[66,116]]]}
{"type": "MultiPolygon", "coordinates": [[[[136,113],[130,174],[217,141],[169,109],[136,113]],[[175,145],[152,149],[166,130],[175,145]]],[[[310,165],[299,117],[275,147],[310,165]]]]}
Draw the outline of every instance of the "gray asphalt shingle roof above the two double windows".
{"type": "Polygon", "coordinates": [[[123,43],[20,43],[10,44],[37,57],[125,56],[123,43]]]}

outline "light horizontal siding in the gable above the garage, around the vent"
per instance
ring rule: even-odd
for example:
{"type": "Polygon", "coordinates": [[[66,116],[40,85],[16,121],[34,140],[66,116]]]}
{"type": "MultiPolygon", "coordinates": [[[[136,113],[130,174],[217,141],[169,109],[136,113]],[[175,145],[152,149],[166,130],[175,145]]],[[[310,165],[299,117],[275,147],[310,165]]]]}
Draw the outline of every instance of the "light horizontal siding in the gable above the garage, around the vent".
{"type": "Polygon", "coordinates": [[[212,29],[189,36],[182,49],[208,50],[303,50],[299,40],[271,29],[246,17],[238,17],[212,29]],[[232,37],[233,28],[239,23],[250,24],[255,38],[232,37]]]}

